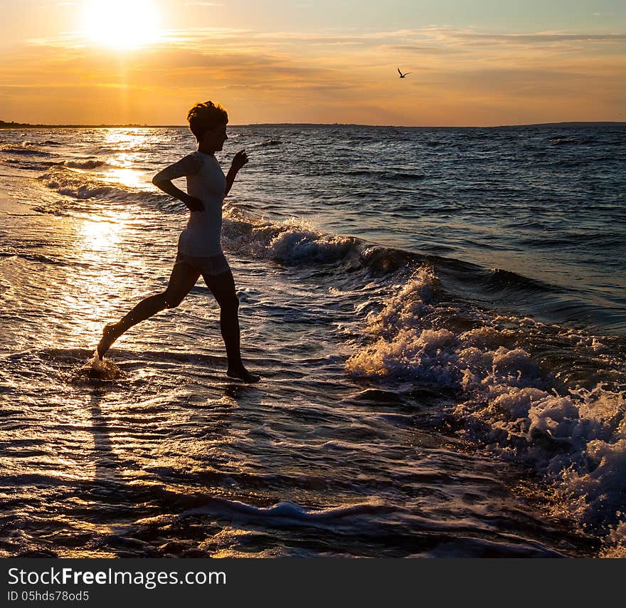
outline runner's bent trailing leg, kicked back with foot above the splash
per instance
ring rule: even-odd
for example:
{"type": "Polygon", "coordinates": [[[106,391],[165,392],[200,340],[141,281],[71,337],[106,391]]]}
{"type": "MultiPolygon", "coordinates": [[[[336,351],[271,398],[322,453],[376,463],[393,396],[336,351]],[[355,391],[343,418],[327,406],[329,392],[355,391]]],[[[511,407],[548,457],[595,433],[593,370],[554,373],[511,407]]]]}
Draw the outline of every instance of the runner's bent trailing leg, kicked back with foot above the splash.
{"type": "Polygon", "coordinates": [[[135,306],[127,315],[117,323],[110,323],[102,330],[102,340],[97,346],[100,359],[105,356],[107,350],[118,337],[129,330],[133,325],[149,319],[165,308],[176,308],[191,291],[198,281],[200,272],[186,263],[177,263],[171,271],[169,284],[163,293],[151,295],[135,306]]]}

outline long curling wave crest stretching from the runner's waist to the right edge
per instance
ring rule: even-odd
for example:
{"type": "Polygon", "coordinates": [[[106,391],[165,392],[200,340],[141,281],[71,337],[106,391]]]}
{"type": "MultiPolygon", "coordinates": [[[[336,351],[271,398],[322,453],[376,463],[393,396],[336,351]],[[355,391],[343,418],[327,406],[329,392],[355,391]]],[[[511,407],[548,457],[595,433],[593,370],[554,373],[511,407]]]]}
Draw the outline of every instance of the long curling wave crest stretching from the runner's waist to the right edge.
{"type": "Polygon", "coordinates": [[[403,281],[423,263],[436,266],[450,298],[466,298],[479,305],[532,315],[547,323],[575,327],[601,325],[618,332],[623,315],[608,305],[587,303],[584,294],[563,285],[539,281],[512,271],[487,269],[455,258],[415,253],[368,243],[356,237],[329,234],[309,221],[253,219],[241,206],[225,206],[223,246],[253,258],[269,258],[287,265],[339,264],[341,276],[355,270],[372,276],[397,276],[403,281]]]}

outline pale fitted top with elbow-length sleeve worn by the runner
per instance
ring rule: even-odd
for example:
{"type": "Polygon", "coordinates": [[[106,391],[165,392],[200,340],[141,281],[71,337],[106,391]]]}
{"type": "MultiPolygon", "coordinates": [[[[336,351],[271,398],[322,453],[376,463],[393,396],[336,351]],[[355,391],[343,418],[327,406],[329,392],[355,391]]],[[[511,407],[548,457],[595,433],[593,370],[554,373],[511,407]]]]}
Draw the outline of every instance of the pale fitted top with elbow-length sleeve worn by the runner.
{"type": "Polygon", "coordinates": [[[213,154],[193,152],[169,165],[154,177],[156,181],[187,178],[187,194],[200,199],[204,211],[191,211],[189,221],[179,236],[179,252],[185,256],[209,257],[223,255],[222,203],[226,193],[226,177],[213,154]]]}

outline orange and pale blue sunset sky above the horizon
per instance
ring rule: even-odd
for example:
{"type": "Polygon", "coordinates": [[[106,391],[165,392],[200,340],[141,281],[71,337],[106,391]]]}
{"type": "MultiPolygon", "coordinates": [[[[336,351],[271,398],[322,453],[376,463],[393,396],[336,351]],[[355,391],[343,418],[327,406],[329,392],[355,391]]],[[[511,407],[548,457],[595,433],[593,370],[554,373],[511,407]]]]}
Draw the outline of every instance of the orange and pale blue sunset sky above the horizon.
{"type": "Polygon", "coordinates": [[[624,0],[0,0],[0,120],[626,120],[624,0]],[[398,68],[406,78],[400,78],[398,68]]]}

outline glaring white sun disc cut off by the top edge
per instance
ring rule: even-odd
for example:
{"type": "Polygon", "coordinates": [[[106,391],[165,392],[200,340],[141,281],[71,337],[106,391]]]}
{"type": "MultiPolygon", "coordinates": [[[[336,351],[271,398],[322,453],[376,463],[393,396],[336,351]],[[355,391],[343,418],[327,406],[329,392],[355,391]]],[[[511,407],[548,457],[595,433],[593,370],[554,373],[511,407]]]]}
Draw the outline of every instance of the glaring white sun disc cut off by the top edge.
{"type": "Polygon", "coordinates": [[[85,33],[111,48],[137,48],[159,38],[159,16],[149,0],[90,0],[85,6],[85,33]]]}

